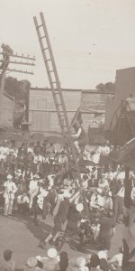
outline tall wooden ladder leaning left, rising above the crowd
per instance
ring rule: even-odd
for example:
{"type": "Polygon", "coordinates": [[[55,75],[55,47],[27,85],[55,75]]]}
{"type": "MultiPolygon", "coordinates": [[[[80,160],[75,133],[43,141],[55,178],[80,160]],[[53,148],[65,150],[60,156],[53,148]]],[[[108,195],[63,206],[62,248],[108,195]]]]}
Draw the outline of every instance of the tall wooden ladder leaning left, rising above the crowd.
{"type": "Polygon", "coordinates": [[[52,91],[52,96],[53,96],[55,107],[58,113],[59,126],[61,128],[64,142],[66,140],[66,137],[68,137],[69,139],[71,152],[72,152],[73,159],[76,166],[77,178],[79,180],[80,187],[81,187],[81,195],[83,197],[85,213],[87,216],[89,216],[89,210],[87,208],[87,204],[85,200],[85,190],[82,185],[79,165],[77,163],[76,149],[75,149],[75,145],[71,136],[70,126],[69,126],[68,117],[67,117],[67,110],[66,110],[66,106],[65,106],[65,102],[63,98],[62,89],[60,87],[60,82],[58,79],[58,70],[56,67],[56,63],[53,57],[53,52],[52,52],[51,45],[49,42],[49,34],[48,34],[48,30],[47,30],[47,26],[44,20],[43,13],[40,13],[40,21],[41,21],[40,24],[38,24],[37,18],[35,16],[33,17],[33,20],[35,23],[35,28],[36,28],[39,42],[40,42],[40,49],[42,52],[43,61],[48,73],[50,89],[52,91]]]}

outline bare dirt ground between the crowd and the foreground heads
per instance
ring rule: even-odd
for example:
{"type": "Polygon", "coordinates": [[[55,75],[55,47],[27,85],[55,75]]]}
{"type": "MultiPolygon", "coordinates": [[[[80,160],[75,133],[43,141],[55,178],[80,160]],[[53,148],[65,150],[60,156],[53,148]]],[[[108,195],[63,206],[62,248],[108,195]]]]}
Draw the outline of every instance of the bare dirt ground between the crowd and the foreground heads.
{"type": "MultiPolygon", "coordinates": [[[[16,267],[23,268],[28,257],[45,256],[46,251],[39,248],[39,241],[45,238],[53,226],[52,217],[46,220],[40,219],[39,225],[35,226],[31,217],[14,214],[12,217],[4,217],[0,214],[0,262],[3,258],[3,251],[11,248],[14,251],[16,267]]],[[[117,253],[121,246],[122,225],[116,226],[116,233],[112,238],[112,249],[110,256],[117,253]]],[[[62,250],[67,251],[68,257],[82,255],[81,252],[73,250],[66,243],[62,250]]],[[[90,250],[87,251],[90,253],[90,250]]]]}

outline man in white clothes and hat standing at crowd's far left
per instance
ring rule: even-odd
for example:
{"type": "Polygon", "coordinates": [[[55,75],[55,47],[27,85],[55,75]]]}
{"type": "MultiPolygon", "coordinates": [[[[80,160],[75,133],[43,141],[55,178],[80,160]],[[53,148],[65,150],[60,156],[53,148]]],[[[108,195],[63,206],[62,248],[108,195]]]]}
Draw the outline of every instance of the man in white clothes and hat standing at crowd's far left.
{"type": "Polygon", "coordinates": [[[14,193],[17,192],[13,176],[8,174],[7,181],[4,182],[4,215],[12,215],[14,205],[14,193]]]}

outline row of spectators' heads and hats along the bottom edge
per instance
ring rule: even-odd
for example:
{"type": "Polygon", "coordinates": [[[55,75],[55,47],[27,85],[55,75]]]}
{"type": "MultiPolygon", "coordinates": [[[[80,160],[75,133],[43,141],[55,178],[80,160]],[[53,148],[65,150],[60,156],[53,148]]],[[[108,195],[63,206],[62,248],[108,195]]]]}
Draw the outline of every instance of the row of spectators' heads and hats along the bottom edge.
{"type": "MultiPolygon", "coordinates": [[[[4,263],[0,270],[15,270],[15,261],[11,249],[4,250],[4,263]]],[[[46,257],[29,257],[23,266],[23,271],[121,271],[122,248],[112,257],[107,257],[105,251],[87,256],[68,257],[66,251],[60,253],[56,248],[49,248],[46,257]]]]}

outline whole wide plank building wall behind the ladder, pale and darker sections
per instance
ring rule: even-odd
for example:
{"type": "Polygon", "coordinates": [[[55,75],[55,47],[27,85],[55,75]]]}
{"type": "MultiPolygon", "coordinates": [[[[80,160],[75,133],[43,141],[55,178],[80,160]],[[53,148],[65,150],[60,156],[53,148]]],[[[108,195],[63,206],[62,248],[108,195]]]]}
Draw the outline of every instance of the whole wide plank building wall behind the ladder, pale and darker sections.
{"type": "MultiPolygon", "coordinates": [[[[62,89],[69,123],[80,107],[85,131],[88,127],[103,124],[105,104],[113,96],[111,92],[97,90],[62,89]]],[[[58,115],[50,89],[30,89],[28,122],[31,132],[60,132],[58,115]]]]}

